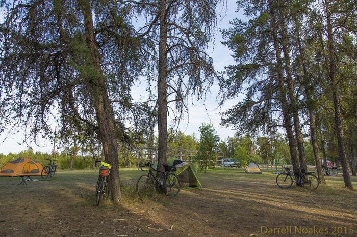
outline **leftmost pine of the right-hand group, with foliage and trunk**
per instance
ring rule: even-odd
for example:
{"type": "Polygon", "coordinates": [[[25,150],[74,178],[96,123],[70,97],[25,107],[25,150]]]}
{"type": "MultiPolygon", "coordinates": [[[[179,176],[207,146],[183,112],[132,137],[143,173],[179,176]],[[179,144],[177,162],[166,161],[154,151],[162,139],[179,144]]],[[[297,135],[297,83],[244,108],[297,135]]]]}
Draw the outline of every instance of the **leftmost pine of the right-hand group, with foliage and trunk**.
{"type": "MultiPolygon", "coordinates": [[[[282,57],[282,32],[278,8],[281,1],[237,1],[249,17],[247,22],[235,19],[223,31],[223,44],[234,52],[235,65],[226,67],[230,77],[223,83],[226,98],[234,98],[245,90],[245,99],[224,113],[222,124],[252,135],[269,134],[285,127],[294,172],[300,172],[302,153],[297,156],[297,142],[291,122],[296,115],[295,90],[288,85],[282,57]],[[290,97],[289,97],[290,96],[290,97]],[[294,109],[292,109],[294,108],[294,109]]],[[[296,129],[295,129],[296,131],[296,129]]],[[[302,151],[300,149],[300,151],[302,151]]],[[[303,151],[302,151],[303,152],[303,151]]],[[[303,162],[302,162],[303,165],[303,162]]]]}

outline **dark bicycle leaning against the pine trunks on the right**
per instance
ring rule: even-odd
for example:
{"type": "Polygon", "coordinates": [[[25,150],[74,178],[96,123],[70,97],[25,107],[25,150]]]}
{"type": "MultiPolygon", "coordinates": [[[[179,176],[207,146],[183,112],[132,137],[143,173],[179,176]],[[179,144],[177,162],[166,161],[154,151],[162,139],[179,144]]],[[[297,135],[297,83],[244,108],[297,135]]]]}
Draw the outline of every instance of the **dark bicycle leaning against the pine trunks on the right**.
{"type": "MultiPolygon", "coordinates": [[[[294,172],[290,171],[290,168],[284,167],[286,171],[276,176],[276,184],[282,189],[288,189],[293,182],[297,185],[301,185],[305,190],[315,190],[319,187],[319,179],[311,172],[303,172],[298,179],[294,172]]],[[[303,171],[303,170],[302,170],[303,171]]]]}

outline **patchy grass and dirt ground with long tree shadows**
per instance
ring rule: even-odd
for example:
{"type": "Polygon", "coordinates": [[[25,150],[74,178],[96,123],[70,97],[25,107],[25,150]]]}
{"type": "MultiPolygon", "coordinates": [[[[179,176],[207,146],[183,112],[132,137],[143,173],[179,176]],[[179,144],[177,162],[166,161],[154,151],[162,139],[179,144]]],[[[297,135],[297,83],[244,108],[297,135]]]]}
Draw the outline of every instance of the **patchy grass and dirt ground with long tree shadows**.
{"type": "Polygon", "coordinates": [[[122,200],[99,207],[95,170],[58,171],[27,186],[1,178],[0,236],[357,236],[357,191],[341,175],[308,192],[279,189],[272,172],[208,170],[199,173],[202,189],[140,200],[143,172],[121,169],[122,200]]]}

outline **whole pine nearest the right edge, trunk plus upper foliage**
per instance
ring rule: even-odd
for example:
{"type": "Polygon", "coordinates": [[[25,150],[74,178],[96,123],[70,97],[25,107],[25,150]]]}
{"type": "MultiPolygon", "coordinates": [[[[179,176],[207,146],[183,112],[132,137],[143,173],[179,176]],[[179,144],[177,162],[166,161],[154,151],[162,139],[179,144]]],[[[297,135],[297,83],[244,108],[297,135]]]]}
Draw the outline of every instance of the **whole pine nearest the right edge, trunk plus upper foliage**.
{"type": "Polygon", "coordinates": [[[344,45],[345,43],[348,45],[348,36],[353,34],[357,29],[356,25],[352,22],[353,20],[351,21],[351,19],[355,19],[355,17],[357,17],[357,13],[355,11],[355,4],[350,1],[324,0],[322,6],[323,7],[319,9],[319,15],[323,17],[325,22],[324,28],[326,30],[324,33],[327,36],[326,47],[324,47],[323,44],[322,47],[326,55],[325,67],[328,79],[328,88],[333,97],[334,124],[338,144],[338,161],[342,166],[345,186],[353,189],[345,152],[345,135],[343,129],[344,115],[342,111],[343,103],[341,102],[341,98],[343,98],[341,93],[343,90],[341,89],[341,86],[344,85],[344,76],[341,72],[343,72],[344,62],[350,62],[354,56],[352,56],[352,58],[341,58],[341,56],[344,55],[339,54],[339,50],[342,49],[342,52],[346,55],[350,54],[345,51],[344,45]],[[340,42],[343,43],[340,44],[340,42]]]}

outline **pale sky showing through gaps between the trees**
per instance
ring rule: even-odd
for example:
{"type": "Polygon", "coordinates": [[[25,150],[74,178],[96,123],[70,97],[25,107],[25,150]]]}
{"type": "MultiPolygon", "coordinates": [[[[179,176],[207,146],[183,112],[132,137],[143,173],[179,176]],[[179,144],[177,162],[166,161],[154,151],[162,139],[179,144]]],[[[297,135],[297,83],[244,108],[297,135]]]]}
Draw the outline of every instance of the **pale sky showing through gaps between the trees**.
{"type": "MultiPolygon", "coordinates": [[[[223,10],[218,10],[218,13],[221,12],[221,15],[225,16],[219,17],[217,22],[218,29],[227,29],[230,27],[229,21],[234,18],[243,19],[244,16],[241,12],[236,12],[236,1],[228,0],[226,6],[226,14],[225,14],[225,6],[223,10]]],[[[0,22],[2,22],[2,14],[0,14],[0,22]]],[[[221,44],[222,36],[219,30],[215,32],[215,45],[213,47],[213,43],[211,47],[207,50],[208,54],[213,58],[213,65],[217,71],[223,71],[224,66],[228,66],[234,64],[233,58],[231,56],[232,52],[228,47],[221,44]]],[[[226,76],[226,75],[225,75],[226,76]]],[[[133,88],[133,97],[139,97],[142,94],[142,89],[140,86],[136,86],[133,88]]],[[[189,103],[188,107],[188,116],[186,115],[184,120],[180,122],[179,129],[185,134],[192,135],[193,133],[199,137],[199,126],[202,123],[212,123],[217,131],[219,137],[224,140],[228,136],[233,136],[235,131],[231,128],[225,128],[219,125],[221,115],[219,112],[226,111],[230,109],[233,105],[235,105],[239,100],[243,98],[238,97],[235,100],[230,100],[224,103],[224,105],[220,108],[218,107],[218,102],[216,101],[216,97],[218,94],[218,86],[214,85],[211,87],[211,94],[206,98],[205,103],[203,101],[195,101],[195,99],[191,99],[194,102],[194,105],[189,103]],[[207,109],[207,110],[206,110],[207,109]]],[[[191,101],[190,101],[191,102],[191,101]]],[[[168,121],[169,122],[169,121],[168,121]]],[[[168,125],[169,126],[169,125],[168,125]]],[[[55,129],[55,125],[53,126],[55,129]]],[[[9,136],[5,141],[3,141],[6,137],[6,134],[0,134],[0,153],[7,155],[10,152],[18,153],[28,148],[26,144],[20,144],[23,141],[23,134],[16,133],[9,136]]],[[[53,144],[50,140],[38,139],[38,143],[41,147],[37,146],[35,143],[30,143],[32,149],[41,152],[52,153],[53,144]]]]}

